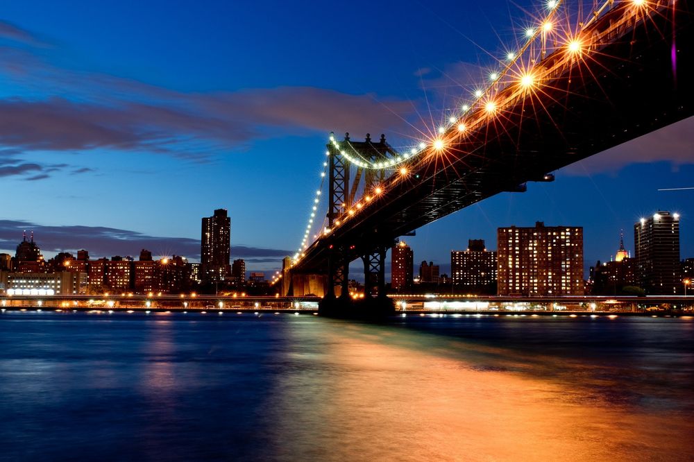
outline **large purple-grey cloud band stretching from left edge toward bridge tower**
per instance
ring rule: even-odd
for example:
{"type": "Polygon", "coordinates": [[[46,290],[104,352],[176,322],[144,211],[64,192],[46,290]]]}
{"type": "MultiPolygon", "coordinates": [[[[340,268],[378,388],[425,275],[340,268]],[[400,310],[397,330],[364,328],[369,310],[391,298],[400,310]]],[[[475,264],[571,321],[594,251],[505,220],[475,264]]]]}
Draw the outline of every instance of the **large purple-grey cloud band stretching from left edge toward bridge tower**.
{"type": "MultiPolygon", "coordinates": [[[[25,41],[33,37],[9,25],[6,33],[25,41]]],[[[56,66],[49,58],[44,50],[0,45],[0,75],[34,95],[0,100],[0,148],[112,148],[205,160],[287,134],[386,131],[412,112],[402,99],[318,87],[176,92],[56,66]]]]}

